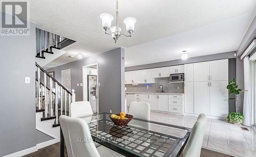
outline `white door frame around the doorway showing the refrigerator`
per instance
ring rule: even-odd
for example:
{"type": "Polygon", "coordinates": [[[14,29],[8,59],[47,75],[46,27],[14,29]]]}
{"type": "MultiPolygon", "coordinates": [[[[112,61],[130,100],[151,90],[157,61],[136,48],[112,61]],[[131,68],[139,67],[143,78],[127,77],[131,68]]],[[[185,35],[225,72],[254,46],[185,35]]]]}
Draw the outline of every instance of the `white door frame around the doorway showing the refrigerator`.
{"type": "Polygon", "coordinates": [[[87,95],[88,95],[88,85],[87,85],[87,76],[84,77],[84,74],[87,74],[87,68],[89,66],[93,66],[96,65],[97,66],[97,113],[99,113],[99,66],[98,66],[98,62],[97,63],[93,63],[93,64],[88,64],[88,65],[83,65],[82,66],[82,100],[83,101],[88,101],[87,95]],[[86,96],[86,97],[85,97],[86,96]]]}

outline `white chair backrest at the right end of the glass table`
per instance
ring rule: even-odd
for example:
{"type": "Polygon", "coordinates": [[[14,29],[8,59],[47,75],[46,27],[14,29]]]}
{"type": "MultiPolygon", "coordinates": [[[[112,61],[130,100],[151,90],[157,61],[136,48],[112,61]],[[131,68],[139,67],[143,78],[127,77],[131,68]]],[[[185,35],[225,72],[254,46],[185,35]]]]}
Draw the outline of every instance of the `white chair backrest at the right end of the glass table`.
{"type": "Polygon", "coordinates": [[[187,144],[182,152],[183,157],[193,156],[199,157],[204,139],[204,132],[207,123],[207,118],[204,114],[200,114],[194,124],[187,144]]]}

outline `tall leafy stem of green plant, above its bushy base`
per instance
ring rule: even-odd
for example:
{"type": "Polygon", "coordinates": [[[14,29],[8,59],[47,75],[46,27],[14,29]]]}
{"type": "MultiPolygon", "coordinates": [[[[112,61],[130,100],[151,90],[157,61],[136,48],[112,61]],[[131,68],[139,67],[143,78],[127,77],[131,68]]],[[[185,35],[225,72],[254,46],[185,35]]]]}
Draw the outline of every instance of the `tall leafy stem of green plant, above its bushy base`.
{"type": "Polygon", "coordinates": [[[234,100],[236,102],[236,112],[238,112],[238,101],[237,101],[237,95],[240,94],[242,89],[238,88],[238,84],[236,83],[236,78],[232,78],[229,80],[227,89],[229,91],[230,97],[233,96],[233,98],[229,98],[229,100],[234,100]]]}

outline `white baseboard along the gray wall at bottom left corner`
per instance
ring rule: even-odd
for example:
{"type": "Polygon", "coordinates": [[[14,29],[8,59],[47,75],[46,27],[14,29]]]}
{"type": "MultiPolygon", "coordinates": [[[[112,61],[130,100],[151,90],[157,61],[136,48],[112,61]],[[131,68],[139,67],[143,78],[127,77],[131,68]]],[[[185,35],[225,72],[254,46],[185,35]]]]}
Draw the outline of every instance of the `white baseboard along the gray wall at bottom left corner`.
{"type": "Polygon", "coordinates": [[[49,140],[49,141],[46,141],[46,142],[38,143],[34,147],[27,148],[27,149],[24,149],[24,150],[20,150],[20,151],[17,151],[17,152],[5,155],[3,157],[20,157],[20,156],[24,156],[24,155],[36,152],[36,151],[38,151],[38,149],[45,148],[47,146],[53,145],[53,144],[58,143],[58,142],[59,142],[59,139],[52,139],[52,140],[49,140]]]}

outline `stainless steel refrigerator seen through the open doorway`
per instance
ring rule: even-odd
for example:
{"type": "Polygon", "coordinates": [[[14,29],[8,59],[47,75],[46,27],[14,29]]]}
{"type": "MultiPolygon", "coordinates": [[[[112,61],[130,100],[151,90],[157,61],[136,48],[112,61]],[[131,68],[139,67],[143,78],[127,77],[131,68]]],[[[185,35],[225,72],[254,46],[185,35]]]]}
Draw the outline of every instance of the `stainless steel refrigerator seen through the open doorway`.
{"type": "Polygon", "coordinates": [[[93,113],[97,113],[97,76],[87,75],[88,81],[88,101],[91,103],[93,113]]]}

